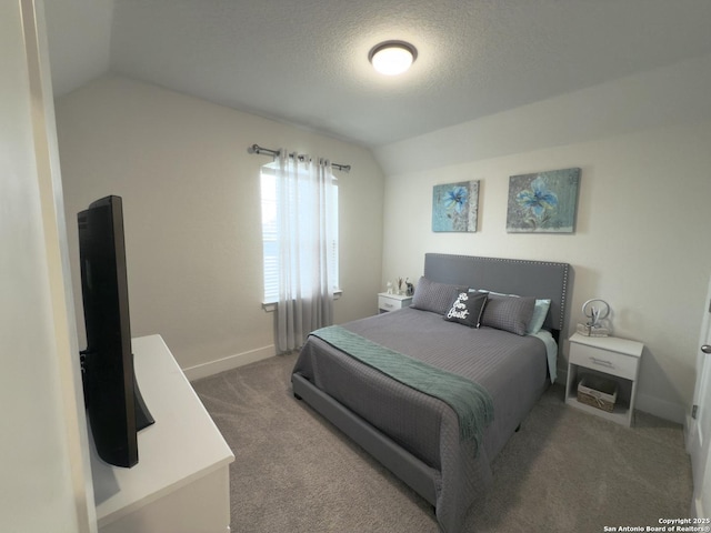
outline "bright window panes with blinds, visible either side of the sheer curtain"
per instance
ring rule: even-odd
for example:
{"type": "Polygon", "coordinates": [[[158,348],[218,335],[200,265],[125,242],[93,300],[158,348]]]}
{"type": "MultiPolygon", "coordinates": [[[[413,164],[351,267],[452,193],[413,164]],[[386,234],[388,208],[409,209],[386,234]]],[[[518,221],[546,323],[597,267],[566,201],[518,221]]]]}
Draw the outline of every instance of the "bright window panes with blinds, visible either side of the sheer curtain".
{"type": "MultiPolygon", "coordinates": [[[[261,169],[261,197],[262,197],[262,245],[264,269],[264,303],[277,303],[279,300],[279,219],[278,219],[278,184],[276,164],[269,163],[261,169]]],[[[300,172],[307,172],[306,169],[300,172]]],[[[306,192],[306,191],[304,191],[306,192]]],[[[331,205],[329,243],[330,255],[329,278],[333,280],[333,291],[339,291],[339,228],[338,228],[338,182],[333,179],[333,202],[331,205]]],[[[309,247],[308,242],[301,242],[301,247],[309,247]]]]}

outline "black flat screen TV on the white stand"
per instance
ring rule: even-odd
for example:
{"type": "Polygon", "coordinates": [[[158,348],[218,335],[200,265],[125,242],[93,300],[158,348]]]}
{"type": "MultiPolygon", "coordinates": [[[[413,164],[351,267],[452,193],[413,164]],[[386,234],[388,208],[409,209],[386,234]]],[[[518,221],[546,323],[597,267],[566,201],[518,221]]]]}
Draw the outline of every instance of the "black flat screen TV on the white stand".
{"type": "Polygon", "coordinates": [[[133,372],[120,197],[78,215],[87,349],[80,354],[84,405],[97,454],[116,466],[138,463],[138,431],[153,423],[133,372]]]}

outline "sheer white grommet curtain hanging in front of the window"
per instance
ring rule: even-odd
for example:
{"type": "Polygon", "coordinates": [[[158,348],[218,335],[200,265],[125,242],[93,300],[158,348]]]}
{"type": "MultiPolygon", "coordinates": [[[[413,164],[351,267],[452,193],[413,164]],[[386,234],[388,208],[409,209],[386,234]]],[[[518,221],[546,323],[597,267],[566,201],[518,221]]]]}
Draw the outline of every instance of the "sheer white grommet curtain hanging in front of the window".
{"type": "Polygon", "coordinates": [[[277,171],[279,301],[277,350],[303,344],[309,332],[333,322],[331,231],[333,175],[327,160],[281,150],[277,171]]]}

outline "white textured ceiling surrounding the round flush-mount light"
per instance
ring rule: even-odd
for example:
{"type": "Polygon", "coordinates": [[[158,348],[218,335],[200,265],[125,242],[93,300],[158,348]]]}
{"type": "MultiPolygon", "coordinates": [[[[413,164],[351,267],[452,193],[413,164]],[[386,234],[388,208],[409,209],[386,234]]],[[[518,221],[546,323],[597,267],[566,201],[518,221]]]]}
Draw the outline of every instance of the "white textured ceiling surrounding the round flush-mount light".
{"type": "MultiPolygon", "coordinates": [[[[48,6],[56,87],[77,2],[48,6]]],[[[116,0],[106,68],[378,147],[709,54],[710,21],[709,0],[116,0]],[[419,51],[398,78],[368,63],[389,39],[419,51]]]]}

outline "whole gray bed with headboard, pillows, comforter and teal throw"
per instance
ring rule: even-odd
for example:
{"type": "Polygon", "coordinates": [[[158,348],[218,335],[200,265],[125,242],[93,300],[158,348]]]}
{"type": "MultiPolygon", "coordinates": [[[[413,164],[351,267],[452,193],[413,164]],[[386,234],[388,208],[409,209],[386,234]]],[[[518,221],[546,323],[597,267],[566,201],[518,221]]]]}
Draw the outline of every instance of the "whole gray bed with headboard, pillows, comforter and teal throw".
{"type": "Polygon", "coordinates": [[[309,336],[293,394],[430,502],[442,531],[459,532],[491,480],[491,461],[555,379],[570,272],[567,263],[428,253],[411,308],[309,336]],[[472,302],[482,298],[472,324],[472,302]],[[454,303],[470,305],[468,320],[457,312],[445,320],[454,303]],[[529,334],[534,314],[540,331],[529,334]],[[373,362],[389,358],[415,368],[390,372],[373,362]],[[455,399],[427,389],[440,379],[473,388],[468,394],[480,403],[462,414],[455,399]]]}

